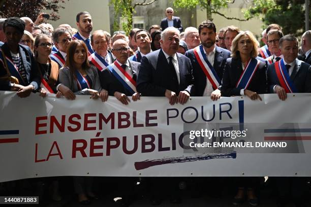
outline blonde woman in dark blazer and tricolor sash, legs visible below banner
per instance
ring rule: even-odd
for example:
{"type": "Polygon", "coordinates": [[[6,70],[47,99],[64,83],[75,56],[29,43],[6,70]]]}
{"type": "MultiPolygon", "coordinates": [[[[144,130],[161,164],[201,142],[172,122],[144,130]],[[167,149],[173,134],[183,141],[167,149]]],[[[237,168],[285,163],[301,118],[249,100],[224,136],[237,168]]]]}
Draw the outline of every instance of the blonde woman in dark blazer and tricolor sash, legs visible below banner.
{"type": "MultiPolygon", "coordinates": [[[[227,59],[221,87],[222,96],[247,96],[261,100],[259,94],[266,92],[266,63],[256,59],[258,42],[250,31],[241,31],[233,40],[232,57],[227,59]]],[[[238,191],[233,204],[241,204],[246,195],[251,205],[258,205],[255,187],[258,178],[237,179],[238,191]]]]}

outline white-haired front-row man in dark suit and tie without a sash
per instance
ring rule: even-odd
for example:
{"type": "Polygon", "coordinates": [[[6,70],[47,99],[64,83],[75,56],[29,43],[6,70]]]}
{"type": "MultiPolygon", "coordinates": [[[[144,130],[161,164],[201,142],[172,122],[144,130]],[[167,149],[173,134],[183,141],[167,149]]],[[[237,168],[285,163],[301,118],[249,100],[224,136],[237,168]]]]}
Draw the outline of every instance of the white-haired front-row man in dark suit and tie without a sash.
{"type": "Polygon", "coordinates": [[[185,103],[193,92],[190,59],[177,53],[179,30],[166,28],[161,34],[160,50],[142,57],[137,90],[144,96],[166,96],[169,103],[185,103]]]}

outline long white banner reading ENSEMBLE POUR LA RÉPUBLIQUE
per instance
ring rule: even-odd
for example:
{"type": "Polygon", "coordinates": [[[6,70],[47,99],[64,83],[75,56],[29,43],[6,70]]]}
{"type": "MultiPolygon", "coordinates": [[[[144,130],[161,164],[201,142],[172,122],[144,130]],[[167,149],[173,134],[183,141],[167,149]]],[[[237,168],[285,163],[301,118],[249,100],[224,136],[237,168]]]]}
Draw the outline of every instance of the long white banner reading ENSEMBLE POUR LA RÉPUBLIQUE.
{"type": "Polygon", "coordinates": [[[2,91],[0,182],[51,176],[311,176],[310,94],[289,94],[286,101],[261,96],[262,101],[192,97],[174,106],[165,97],[141,97],[125,106],[114,97],[101,102],[78,95],[71,101],[2,91]],[[200,124],[215,133],[222,124],[232,125],[246,136],[205,136],[210,146],[189,147],[200,143],[189,136],[200,133],[200,124]],[[254,142],[211,146],[242,140],[254,142]]]}

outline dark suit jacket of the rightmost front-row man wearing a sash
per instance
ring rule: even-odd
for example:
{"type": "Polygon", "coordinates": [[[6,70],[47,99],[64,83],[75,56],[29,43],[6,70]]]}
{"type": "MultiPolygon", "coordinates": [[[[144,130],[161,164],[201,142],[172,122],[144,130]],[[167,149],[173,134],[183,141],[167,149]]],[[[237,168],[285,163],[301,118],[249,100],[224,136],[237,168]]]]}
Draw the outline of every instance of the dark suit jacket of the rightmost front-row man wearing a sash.
{"type": "MultiPolygon", "coordinates": [[[[280,85],[275,73],[274,64],[270,64],[268,66],[267,76],[269,92],[273,93],[273,87],[275,85],[280,85]]],[[[308,63],[296,59],[296,65],[290,78],[294,86],[298,90],[298,93],[311,92],[311,66],[308,63]]]]}

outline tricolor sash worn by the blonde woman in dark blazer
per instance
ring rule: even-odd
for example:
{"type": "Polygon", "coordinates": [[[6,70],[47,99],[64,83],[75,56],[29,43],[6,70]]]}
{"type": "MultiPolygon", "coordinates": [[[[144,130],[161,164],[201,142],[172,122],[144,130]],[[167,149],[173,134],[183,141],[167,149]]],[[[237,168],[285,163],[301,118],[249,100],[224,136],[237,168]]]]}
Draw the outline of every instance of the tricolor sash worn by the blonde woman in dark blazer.
{"type": "Polygon", "coordinates": [[[251,58],[250,61],[248,61],[246,68],[236,83],[236,88],[246,89],[250,85],[259,64],[260,60],[255,58],[251,58]]]}

